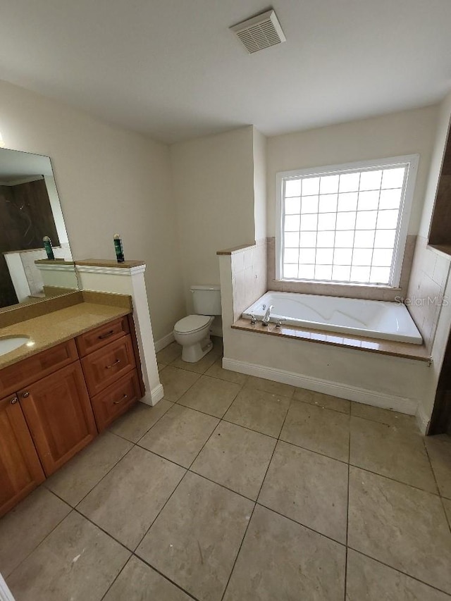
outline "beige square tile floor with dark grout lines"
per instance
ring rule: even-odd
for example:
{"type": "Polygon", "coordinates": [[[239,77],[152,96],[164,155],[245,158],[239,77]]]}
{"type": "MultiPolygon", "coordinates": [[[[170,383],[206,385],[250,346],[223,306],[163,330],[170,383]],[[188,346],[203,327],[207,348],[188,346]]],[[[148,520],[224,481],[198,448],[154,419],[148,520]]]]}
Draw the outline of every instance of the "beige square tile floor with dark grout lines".
{"type": "Polygon", "coordinates": [[[158,356],[138,404],[0,521],[16,601],[451,600],[451,438],[158,356]]]}

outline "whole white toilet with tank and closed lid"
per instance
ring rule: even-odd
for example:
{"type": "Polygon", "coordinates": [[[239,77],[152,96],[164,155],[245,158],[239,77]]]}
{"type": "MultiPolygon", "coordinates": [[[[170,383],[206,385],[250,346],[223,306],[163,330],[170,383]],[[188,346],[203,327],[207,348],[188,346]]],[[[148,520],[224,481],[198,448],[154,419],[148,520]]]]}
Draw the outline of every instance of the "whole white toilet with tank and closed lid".
{"type": "Polygon", "coordinates": [[[192,286],[195,315],[179,319],[174,326],[174,337],[182,345],[182,359],[195,363],[213,348],[210,326],[215,315],[221,315],[221,290],[219,286],[192,286]]]}

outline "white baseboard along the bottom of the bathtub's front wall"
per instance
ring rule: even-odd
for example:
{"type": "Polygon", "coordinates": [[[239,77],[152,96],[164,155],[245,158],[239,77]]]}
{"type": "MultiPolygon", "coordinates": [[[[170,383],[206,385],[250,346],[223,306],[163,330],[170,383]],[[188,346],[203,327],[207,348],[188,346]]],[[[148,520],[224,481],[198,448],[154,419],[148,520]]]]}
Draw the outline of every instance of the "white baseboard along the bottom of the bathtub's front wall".
{"type": "Polygon", "coordinates": [[[314,390],[314,392],[323,392],[323,394],[326,395],[372,405],[373,407],[393,409],[394,411],[400,411],[400,413],[407,415],[416,414],[417,403],[413,399],[408,399],[406,397],[387,395],[383,392],[375,392],[373,390],[366,390],[365,388],[357,388],[356,386],[330,382],[329,380],[321,380],[320,378],[302,376],[301,373],[247,363],[247,361],[237,361],[236,359],[228,359],[227,357],[223,358],[223,368],[230,369],[230,371],[246,373],[248,376],[257,376],[257,378],[265,378],[266,380],[273,380],[274,382],[290,384],[297,388],[306,388],[307,390],[314,390]]]}

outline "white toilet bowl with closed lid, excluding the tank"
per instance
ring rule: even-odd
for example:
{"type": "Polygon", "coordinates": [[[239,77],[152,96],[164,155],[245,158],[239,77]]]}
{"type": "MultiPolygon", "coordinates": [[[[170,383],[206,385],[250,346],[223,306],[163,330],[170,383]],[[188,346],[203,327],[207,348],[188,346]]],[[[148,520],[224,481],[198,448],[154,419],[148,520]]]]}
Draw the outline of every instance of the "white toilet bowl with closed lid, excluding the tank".
{"type": "Polygon", "coordinates": [[[182,345],[182,359],[196,363],[213,347],[210,340],[210,326],[214,320],[209,315],[188,315],[174,326],[174,338],[182,345]]]}

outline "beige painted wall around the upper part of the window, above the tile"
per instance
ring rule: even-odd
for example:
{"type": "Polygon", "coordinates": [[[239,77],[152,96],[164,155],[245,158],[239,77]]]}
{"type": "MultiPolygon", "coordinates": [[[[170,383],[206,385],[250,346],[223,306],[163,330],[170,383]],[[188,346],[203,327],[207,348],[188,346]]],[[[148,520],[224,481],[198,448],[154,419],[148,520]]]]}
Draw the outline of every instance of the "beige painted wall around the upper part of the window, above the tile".
{"type": "Polygon", "coordinates": [[[437,113],[437,106],[430,106],[268,138],[268,236],[276,235],[278,171],[416,153],[420,162],[409,234],[418,233],[437,113]]]}

